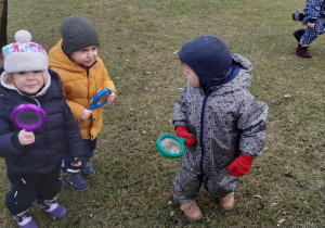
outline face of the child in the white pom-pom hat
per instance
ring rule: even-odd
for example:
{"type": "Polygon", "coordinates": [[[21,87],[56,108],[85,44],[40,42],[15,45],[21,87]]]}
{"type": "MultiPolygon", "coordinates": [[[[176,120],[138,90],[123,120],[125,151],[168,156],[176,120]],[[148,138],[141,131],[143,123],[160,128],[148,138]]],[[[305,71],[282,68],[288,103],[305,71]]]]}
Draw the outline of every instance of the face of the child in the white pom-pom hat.
{"type": "Polygon", "coordinates": [[[18,90],[29,94],[35,94],[46,83],[41,71],[12,73],[12,76],[18,90]]]}

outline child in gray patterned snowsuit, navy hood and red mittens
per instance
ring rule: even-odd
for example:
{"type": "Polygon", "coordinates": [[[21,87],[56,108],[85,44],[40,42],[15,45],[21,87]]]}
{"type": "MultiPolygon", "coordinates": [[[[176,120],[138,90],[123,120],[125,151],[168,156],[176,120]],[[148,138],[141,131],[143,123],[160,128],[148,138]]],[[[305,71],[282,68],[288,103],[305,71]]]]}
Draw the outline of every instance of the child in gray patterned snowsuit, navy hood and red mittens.
{"type": "Polygon", "coordinates": [[[203,183],[222,210],[234,207],[238,177],[264,149],[268,105],[248,91],[250,62],[219,37],[191,40],[179,56],[188,81],[174,104],[173,124],[187,140],[173,194],[185,217],[197,220],[203,214],[195,195],[203,183]]]}

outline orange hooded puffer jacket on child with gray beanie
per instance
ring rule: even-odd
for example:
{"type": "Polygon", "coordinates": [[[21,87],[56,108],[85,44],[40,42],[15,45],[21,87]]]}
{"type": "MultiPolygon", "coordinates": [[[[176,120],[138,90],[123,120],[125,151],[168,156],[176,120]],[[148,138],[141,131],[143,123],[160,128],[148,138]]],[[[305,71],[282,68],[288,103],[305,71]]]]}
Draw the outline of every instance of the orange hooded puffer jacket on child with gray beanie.
{"type": "Polygon", "coordinates": [[[82,139],[95,139],[103,125],[104,107],[92,110],[92,118],[81,121],[83,109],[89,109],[94,96],[108,88],[116,93],[103,61],[98,58],[89,69],[74,63],[62,50],[62,40],[49,51],[50,68],[57,72],[62,79],[63,92],[67,104],[78,122],[82,139]]]}

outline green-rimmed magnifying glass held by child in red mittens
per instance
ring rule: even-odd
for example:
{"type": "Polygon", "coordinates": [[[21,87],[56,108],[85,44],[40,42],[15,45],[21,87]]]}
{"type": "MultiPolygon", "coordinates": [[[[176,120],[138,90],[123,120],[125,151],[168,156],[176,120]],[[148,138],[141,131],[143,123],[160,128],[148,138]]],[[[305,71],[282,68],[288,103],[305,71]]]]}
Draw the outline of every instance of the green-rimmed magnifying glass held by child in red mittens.
{"type": "Polygon", "coordinates": [[[179,159],[185,151],[185,140],[186,138],[165,134],[158,138],[156,147],[164,156],[168,159],[179,159]]]}

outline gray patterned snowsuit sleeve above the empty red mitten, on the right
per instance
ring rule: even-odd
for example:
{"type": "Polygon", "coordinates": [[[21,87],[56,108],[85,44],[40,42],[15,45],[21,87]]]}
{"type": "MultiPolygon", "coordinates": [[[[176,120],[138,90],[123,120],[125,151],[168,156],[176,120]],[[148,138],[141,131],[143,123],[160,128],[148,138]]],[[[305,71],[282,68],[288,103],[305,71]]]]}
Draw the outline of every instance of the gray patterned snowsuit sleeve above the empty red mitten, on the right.
{"type": "Polygon", "coordinates": [[[257,157],[263,153],[266,139],[268,105],[257,101],[248,91],[239,104],[237,128],[240,131],[239,151],[257,157]]]}

